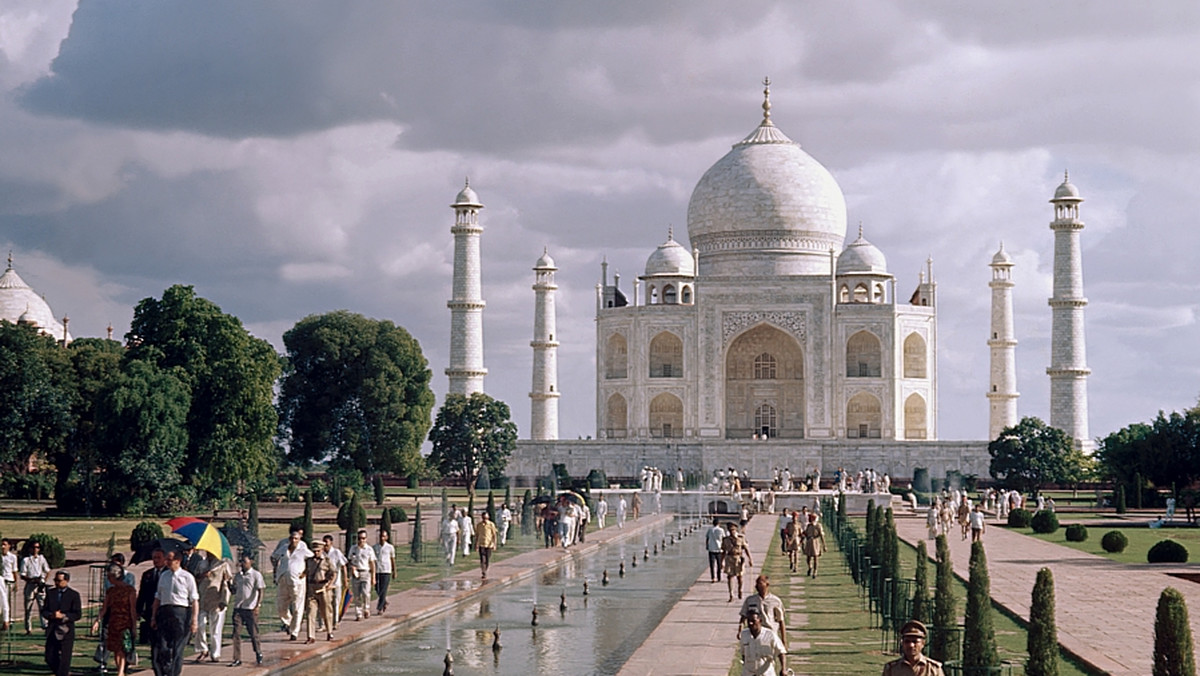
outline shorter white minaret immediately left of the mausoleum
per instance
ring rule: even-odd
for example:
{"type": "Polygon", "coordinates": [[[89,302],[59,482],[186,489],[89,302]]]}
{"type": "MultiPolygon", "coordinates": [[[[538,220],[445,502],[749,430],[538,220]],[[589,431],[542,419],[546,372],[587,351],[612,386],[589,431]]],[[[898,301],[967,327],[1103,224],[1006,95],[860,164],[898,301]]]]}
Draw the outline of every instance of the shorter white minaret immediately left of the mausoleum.
{"type": "Polygon", "coordinates": [[[532,425],[529,438],[558,438],[558,339],[554,328],[554,259],[548,251],[534,264],[533,389],[529,391],[532,425]]]}

